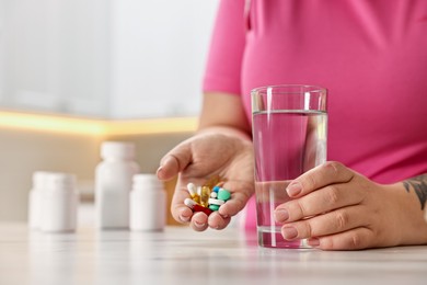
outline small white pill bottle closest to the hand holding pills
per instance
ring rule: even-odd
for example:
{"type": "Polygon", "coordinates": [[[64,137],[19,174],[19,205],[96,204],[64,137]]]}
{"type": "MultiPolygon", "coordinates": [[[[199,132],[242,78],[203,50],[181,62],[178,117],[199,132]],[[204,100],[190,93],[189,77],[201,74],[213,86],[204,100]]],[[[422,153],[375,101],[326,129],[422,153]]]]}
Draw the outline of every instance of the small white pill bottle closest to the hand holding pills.
{"type": "Polygon", "coordinates": [[[166,224],[166,191],[154,174],[134,175],[130,230],[160,231],[166,224]]]}

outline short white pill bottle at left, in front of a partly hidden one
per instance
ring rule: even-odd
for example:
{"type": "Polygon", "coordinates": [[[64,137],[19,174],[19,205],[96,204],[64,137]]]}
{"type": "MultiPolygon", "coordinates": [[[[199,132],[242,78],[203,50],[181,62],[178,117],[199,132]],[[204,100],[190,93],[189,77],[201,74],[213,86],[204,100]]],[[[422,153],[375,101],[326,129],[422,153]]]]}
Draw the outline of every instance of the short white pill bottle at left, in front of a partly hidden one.
{"type": "Polygon", "coordinates": [[[41,229],[47,232],[74,231],[79,194],[76,189],[76,175],[50,172],[44,175],[42,191],[41,229]]]}

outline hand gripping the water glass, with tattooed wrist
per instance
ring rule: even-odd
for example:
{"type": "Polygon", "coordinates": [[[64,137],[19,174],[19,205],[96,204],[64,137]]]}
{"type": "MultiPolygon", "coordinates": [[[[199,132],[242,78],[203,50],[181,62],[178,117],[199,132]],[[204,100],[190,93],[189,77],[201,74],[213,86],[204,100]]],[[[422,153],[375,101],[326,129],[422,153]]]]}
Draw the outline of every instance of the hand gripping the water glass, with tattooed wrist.
{"type": "Polygon", "coordinates": [[[287,187],[293,200],[275,210],[285,239],[323,250],[427,242],[427,224],[403,183],[381,185],[338,162],[326,162],[287,187]]]}

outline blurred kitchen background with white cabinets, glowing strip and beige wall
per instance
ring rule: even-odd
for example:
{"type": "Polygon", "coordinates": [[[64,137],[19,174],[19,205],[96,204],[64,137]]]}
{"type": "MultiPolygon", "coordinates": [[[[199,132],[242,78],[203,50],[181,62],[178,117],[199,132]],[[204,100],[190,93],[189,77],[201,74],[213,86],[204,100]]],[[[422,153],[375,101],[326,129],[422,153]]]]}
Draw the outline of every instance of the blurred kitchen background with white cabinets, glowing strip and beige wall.
{"type": "Polygon", "coordinates": [[[134,141],[154,173],[196,128],[217,4],[0,0],[0,220],[26,220],[37,170],[93,201],[104,140],[134,141]]]}

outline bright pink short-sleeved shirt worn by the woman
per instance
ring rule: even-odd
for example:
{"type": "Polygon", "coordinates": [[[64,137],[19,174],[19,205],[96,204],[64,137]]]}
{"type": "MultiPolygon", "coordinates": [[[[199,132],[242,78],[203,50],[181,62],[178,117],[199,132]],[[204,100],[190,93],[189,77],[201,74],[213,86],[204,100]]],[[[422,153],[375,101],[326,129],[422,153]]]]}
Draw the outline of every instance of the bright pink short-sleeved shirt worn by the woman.
{"type": "Polygon", "coordinates": [[[328,89],[328,160],[379,183],[427,173],[426,0],[221,0],[204,91],[251,122],[250,91],[284,83],[328,89]]]}

